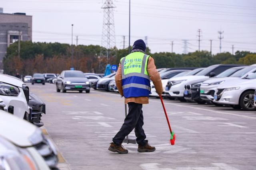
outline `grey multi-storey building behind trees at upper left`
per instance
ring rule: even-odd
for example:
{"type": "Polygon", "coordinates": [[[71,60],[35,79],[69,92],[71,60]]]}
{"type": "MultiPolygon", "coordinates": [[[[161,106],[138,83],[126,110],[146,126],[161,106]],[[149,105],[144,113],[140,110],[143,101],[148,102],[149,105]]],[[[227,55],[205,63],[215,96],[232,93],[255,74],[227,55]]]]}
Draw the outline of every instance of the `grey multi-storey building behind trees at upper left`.
{"type": "Polygon", "coordinates": [[[0,70],[3,69],[7,47],[19,39],[32,41],[32,16],[25,13],[5,14],[0,8],[0,70]]]}

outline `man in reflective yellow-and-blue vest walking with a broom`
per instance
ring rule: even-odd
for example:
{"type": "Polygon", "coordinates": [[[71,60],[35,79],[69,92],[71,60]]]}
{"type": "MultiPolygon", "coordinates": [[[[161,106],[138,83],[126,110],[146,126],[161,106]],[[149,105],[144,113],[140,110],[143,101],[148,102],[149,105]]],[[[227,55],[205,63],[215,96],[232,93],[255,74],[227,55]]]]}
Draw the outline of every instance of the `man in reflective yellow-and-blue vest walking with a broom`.
{"type": "Polygon", "coordinates": [[[142,104],[148,104],[150,94],[150,80],[152,80],[156,92],[161,95],[163,92],[162,82],[154,59],[146,55],[146,44],[142,39],[134,42],[132,52],[120,60],[116,72],[116,87],[121,96],[124,96],[125,104],[128,104],[128,115],[124,119],[119,132],[113,138],[108,150],[118,153],[128,153],[121,145],[124,138],[134,129],[136,141],[138,143],[138,152],[153,152],[155,147],[148,144],[146,135],[142,128],[143,112],[142,104]]]}

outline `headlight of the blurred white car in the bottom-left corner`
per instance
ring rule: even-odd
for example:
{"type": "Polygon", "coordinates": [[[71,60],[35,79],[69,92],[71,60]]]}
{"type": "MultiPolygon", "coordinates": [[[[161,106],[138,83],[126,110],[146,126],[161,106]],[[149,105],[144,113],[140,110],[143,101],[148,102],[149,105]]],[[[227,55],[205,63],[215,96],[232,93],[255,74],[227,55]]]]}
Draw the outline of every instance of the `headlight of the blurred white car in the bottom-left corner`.
{"type": "Polygon", "coordinates": [[[0,138],[0,170],[37,170],[33,158],[26,149],[14,146],[0,138]]]}

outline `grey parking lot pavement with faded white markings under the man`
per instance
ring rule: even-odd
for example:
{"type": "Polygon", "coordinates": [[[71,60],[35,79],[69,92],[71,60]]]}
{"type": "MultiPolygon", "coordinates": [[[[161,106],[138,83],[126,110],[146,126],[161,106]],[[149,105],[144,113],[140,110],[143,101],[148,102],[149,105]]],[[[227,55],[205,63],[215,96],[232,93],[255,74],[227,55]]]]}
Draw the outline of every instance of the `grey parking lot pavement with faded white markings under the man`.
{"type": "MultiPolygon", "coordinates": [[[[57,93],[52,84],[31,85],[46,103],[45,128],[72,170],[253,170],[256,167],[256,113],[227,107],[164,100],[176,144],[159,99],[143,106],[144,130],[155,152],[108,151],[124,120],[124,98],[117,93],[57,93]]],[[[134,133],[131,135],[134,136],[134,133]]]]}

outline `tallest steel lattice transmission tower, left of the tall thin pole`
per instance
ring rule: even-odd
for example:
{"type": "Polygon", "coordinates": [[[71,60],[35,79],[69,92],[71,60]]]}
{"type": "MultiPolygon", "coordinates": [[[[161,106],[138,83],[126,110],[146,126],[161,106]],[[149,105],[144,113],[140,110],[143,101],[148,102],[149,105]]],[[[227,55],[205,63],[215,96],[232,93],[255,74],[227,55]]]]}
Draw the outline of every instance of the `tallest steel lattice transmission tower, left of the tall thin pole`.
{"type": "Polygon", "coordinates": [[[112,0],[106,0],[102,6],[104,11],[103,27],[102,27],[102,39],[100,57],[106,57],[107,61],[109,57],[114,57],[114,54],[110,54],[110,49],[116,46],[116,35],[114,25],[114,8],[116,8],[112,0]]]}

